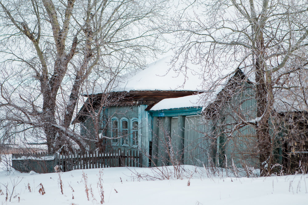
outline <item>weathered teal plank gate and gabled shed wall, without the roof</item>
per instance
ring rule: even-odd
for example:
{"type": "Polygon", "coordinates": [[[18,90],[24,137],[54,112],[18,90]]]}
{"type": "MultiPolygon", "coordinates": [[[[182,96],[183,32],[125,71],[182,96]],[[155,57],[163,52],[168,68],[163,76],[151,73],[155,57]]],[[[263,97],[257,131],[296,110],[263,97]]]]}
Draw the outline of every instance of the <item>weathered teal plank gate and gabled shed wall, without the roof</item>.
{"type": "MultiPolygon", "coordinates": [[[[241,120],[256,118],[256,102],[253,89],[249,86],[246,84],[245,89],[233,93],[229,101],[220,107],[219,117],[216,119],[206,119],[201,115],[182,116],[185,119],[183,136],[179,135],[180,116],[157,118],[158,126],[155,125],[153,128],[153,150],[157,150],[157,155],[155,153],[152,155],[154,162],[157,158],[157,163],[154,164],[157,166],[171,165],[180,161],[197,166],[225,167],[233,164],[239,168],[258,166],[255,128],[246,125],[237,130],[235,127],[241,120]],[[171,119],[170,125],[168,124],[169,118],[171,119]],[[155,129],[158,130],[155,131],[155,129]],[[233,129],[237,131],[230,134],[233,129]],[[171,140],[170,144],[169,140],[171,140]]],[[[164,112],[165,115],[167,113],[167,116],[171,115],[169,113],[176,116],[177,110],[179,115],[184,113],[182,109],[159,112],[164,112]]],[[[194,112],[197,114],[199,111],[196,109],[194,112]]],[[[153,115],[157,116],[155,113],[153,115]]]]}

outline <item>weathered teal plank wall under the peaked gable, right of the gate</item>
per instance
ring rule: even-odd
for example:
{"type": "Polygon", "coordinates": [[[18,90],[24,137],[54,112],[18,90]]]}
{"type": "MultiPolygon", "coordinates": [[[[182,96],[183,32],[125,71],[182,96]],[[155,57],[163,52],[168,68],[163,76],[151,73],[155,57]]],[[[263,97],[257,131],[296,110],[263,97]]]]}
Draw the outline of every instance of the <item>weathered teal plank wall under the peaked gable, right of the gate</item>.
{"type": "MultiPolygon", "coordinates": [[[[249,87],[247,83],[245,85],[249,87]]],[[[253,120],[256,118],[256,101],[254,91],[251,88],[238,90],[232,98],[221,107],[220,119],[214,122],[217,128],[217,163],[220,166],[235,165],[237,167],[257,166],[256,132],[252,125],[247,125],[229,135],[235,124],[241,120],[253,120]],[[238,114],[241,114],[241,118],[238,114]],[[233,124],[226,125],[223,124],[233,124]],[[225,133],[226,132],[226,133],[225,133]],[[223,163],[223,165],[221,165],[223,163]]]]}

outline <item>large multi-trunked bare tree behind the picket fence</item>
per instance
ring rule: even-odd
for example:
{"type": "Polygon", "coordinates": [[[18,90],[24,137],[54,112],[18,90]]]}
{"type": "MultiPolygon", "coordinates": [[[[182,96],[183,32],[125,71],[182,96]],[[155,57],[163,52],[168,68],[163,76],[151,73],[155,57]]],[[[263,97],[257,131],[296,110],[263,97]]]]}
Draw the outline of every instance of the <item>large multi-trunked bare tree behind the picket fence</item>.
{"type": "Polygon", "coordinates": [[[1,120],[37,131],[49,151],[85,149],[70,126],[81,87],[160,50],[163,11],[164,1],[0,1],[1,120]]]}

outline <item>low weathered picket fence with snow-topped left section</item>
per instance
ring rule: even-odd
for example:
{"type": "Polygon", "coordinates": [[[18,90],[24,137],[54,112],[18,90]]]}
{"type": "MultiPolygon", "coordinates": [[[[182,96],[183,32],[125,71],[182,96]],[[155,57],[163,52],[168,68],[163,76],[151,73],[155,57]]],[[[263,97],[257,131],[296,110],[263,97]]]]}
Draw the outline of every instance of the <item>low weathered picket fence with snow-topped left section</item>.
{"type": "Polygon", "coordinates": [[[105,167],[141,167],[142,158],[135,150],[110,152],[70,152],[70,153],[31,153],[12,154],[12,167],[21,172],[37,173],[55,172],[58,165],[61,171],[105,167]]]}

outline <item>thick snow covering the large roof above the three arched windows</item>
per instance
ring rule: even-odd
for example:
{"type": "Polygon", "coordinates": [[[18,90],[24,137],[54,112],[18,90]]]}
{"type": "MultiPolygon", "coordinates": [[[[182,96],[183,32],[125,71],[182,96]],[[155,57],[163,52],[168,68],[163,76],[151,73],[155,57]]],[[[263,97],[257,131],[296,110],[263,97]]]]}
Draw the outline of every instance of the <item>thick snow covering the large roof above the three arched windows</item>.
{"type": "MultiPolygon", "coordinates": [[[[155,61],[144,69],[136,72],[127,73],[116,77],[109,83],[107,90],[110,92],[119,92],[130,90],[199,90],[202,88],[203,78],[196,72],[201,70],[200,65],[192,63],[186,64],[185,71],[174,69],[171,65],[171,56],[164,57],[155,61]]],[[[95,86],[88,90],[87,94],[103,93],[107,83],[95,86]]]]}

